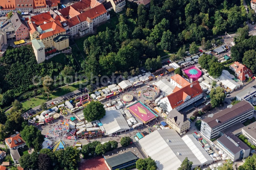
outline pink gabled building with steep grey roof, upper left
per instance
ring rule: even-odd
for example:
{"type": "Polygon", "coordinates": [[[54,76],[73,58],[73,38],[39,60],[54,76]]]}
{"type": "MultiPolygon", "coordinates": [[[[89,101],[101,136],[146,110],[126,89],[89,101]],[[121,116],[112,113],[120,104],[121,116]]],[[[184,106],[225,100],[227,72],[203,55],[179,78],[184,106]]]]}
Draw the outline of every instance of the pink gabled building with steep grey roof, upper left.
{"type": "Polygon", "coordinates": [[[19,13],[15,12],[10,21],[14,27],[16,41],[29,38],[29,29],[25,22],[25,18],[23,18],[19,13]]]}

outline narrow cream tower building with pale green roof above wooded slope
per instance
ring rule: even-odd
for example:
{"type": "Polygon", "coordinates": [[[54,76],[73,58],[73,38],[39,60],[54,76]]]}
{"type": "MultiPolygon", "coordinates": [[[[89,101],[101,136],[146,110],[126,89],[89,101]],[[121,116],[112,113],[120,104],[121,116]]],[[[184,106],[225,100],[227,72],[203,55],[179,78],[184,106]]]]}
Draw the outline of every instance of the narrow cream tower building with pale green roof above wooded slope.
{"type": "Polygon", "coordinates": [[[33,39],[32,48],[36,56],[37,63],[42,63],[45,61],[45,45],[40,40],[33,39]]]}

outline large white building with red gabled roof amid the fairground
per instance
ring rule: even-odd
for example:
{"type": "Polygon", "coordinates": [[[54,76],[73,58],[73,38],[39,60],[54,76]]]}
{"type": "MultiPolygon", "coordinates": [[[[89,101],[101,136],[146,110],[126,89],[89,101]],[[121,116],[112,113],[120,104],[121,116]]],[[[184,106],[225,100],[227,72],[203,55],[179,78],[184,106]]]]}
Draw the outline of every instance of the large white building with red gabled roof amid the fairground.
{"type": "MultiPolygon", "coordinates": [[[[184,80],[179,80],[177,82],[183,85],[184,80]]],[[[163,111],[170,112],[173,109],[176,109],[177,111],[182,110],[203,97],[202,89],[198,81],[186,84],[187,83],[185,83],[185,86],[182,88],[176,86],[173,93],[160,100],[160,107],[163,111]]]]}

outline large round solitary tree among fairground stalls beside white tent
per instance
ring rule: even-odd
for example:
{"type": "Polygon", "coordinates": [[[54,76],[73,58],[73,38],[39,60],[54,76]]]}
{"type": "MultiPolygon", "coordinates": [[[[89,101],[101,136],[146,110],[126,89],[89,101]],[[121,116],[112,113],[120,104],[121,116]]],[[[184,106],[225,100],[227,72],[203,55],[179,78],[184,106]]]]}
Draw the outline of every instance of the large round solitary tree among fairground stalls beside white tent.
{"type": "Polygon", "coordinates": [[[93,120],[99,120],[103,116],[105,116],[106,111],[99,101],[91,101],[84,110],[83,110],[84,117],[87,121],[91,122],[93,120]]]}

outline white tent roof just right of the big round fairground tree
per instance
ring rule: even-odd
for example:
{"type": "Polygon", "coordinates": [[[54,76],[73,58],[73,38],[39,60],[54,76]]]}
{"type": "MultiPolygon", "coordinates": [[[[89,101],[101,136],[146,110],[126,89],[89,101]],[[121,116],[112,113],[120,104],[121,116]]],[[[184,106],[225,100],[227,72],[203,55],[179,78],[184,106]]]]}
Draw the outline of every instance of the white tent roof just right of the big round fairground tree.
{"type": "Polygon", "coordinates": [[[100,122],[106,135],[130,129],[120,110],[116,110],[114,106],[106,108],[106,115],[100,119],[100,122]]]}

